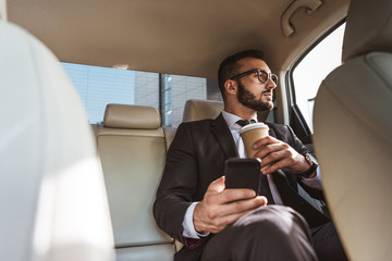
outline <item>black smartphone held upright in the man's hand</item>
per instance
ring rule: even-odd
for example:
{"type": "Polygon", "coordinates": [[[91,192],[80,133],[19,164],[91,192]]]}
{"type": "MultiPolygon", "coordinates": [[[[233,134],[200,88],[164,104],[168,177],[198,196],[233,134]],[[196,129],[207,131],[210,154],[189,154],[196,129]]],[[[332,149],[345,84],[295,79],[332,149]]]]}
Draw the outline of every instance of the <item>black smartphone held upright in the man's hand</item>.
{"type": "Polygon", "coordinates": [[[259,159],[229,159],[225,161],[225,188],[250,188],[259,195],[261,161],[259,159]]]}

